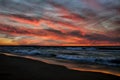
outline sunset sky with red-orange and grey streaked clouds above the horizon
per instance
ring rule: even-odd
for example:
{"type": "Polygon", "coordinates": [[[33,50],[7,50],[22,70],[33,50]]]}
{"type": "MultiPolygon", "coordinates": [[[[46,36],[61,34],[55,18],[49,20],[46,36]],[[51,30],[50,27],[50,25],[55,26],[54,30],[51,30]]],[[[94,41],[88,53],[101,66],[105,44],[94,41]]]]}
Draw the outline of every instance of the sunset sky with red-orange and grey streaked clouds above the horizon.
{"type": "Polygon", "coordinates": [[[0,0],[0,45],[120,46],[120,0],[0,0]]]}

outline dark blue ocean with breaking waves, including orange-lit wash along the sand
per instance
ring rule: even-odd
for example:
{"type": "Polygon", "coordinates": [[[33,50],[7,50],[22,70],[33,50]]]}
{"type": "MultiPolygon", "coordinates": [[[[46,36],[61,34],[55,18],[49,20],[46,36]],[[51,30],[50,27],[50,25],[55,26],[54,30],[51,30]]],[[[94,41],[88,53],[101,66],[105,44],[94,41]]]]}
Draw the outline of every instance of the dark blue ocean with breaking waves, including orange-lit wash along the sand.
{"type": "Polygon", "coordinates": [[[120,76],[120,47],[1,46],[0,52],[69,69],[120,76]]]}

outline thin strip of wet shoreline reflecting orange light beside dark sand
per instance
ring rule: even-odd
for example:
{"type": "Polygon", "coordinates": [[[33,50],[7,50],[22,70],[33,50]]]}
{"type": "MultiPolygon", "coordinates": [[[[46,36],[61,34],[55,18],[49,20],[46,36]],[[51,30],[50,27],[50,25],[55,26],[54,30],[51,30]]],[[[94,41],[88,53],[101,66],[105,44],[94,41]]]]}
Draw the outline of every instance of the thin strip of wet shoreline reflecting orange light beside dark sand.
{"type": "Polygon", "coordinates": [[[14,56],[14,57],[21,57],[21,58],[26,58],[26,59],[31,59],[31,60],[35,60],[35,61],[40,61],[40,62],[44,62],[44,63],[47,63],[47,64],[50,64],[50,65],[57,65],[57,66],[64,66],[66,67],[67,69],[70,69],[70,70],[76,70],[76,71],[84,71],[84,72],[96,72],[96,73],[103,73],[103,74],[110,74],[110,75],[114,75],[114,76],[118,76],[120,77],[120,73],[119,72],[113,72],[113,71],[110,71],[110,70],[99,70],[99,69],[90,69],[90,68],[80,68],[76,65],[72,65],[72,64],[67,64],[67,63],[61,63],[61,62],[58,62],[56,60],[51,60],[51,59],[43,59],[41,57],[34,57],[34,56],[19,56],[19,55],[14,55],[14,54],[9,54],[9,53],[2,53],[6,56],[14,56]]]}

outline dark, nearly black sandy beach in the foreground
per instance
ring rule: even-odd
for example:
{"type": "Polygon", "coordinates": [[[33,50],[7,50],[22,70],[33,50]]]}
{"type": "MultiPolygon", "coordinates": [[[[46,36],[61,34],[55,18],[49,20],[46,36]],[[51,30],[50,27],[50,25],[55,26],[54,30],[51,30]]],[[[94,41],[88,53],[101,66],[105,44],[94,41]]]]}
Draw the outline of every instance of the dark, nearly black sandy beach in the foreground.
{"type": "Polygon", "coordinates": [[[2,80],[119,80],[120,77],[87,71],[70,70],[63,66],[0,54],[2,80]]]}

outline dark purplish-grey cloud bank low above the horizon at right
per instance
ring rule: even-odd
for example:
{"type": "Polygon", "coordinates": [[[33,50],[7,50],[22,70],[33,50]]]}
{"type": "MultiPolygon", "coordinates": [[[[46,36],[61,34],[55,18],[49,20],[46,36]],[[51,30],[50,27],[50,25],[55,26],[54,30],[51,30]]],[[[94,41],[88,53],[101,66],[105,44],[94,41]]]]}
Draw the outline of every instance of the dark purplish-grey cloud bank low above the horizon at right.
{"type": "MultiPolygon", "coordinates": [[[[115,33],[115,32],[114,32],[115,33]]],[[[116,34],[120,33],[119,30],[116,30],[116,34]]],[[[68,33],[71,36],[76,36],[79,38],[84,38],[89,41],[109,41],[109,42],[120,42],[120,37],[108,37],[103,34],[83,34],[80,31],[72,31],[68,33]]]]}

